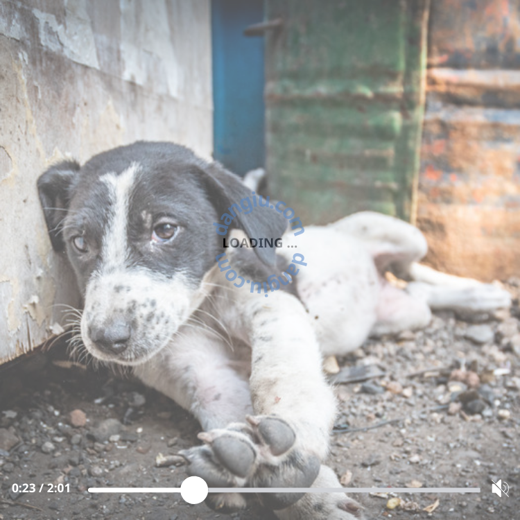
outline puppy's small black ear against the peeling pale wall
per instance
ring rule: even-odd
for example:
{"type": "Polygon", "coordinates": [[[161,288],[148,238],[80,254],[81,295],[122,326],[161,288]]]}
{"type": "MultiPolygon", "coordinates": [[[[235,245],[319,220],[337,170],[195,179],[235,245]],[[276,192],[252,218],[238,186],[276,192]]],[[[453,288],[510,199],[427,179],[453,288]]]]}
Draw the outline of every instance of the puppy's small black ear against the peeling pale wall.
{"type": "Polygon", "coordinates": [[[80,165],[74,161],[64,161],[51,166],[38,179],[38,194],[44,211],[45,222],[51,237],[53,249],[64,250],[62,223],[67,216],[71,200],[71,187],[76,179],[80,165]]]}

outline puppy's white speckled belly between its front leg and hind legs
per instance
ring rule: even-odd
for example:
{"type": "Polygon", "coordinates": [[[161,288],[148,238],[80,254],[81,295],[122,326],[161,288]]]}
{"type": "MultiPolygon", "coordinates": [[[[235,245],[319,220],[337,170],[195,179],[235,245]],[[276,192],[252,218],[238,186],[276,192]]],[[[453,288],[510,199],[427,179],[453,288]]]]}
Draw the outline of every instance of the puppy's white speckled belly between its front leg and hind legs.
{"type": "Polygon", "coordinates": [[[322,352],[352,352],[367,339],[377,319],[381,284],[372,256],[361,241],[330,227],[310,226],[300,236],[284,235],[282,256],[289,260],[295,251],[307,263],[296,276],[297,291],[322,352]]]}

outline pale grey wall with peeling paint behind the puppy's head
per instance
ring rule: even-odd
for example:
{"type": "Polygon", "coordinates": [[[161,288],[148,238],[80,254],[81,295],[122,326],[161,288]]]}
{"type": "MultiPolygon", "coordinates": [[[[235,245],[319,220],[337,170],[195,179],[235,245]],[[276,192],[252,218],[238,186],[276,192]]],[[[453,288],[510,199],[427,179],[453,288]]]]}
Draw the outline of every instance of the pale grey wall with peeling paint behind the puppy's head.
{"type": "Polygon", "coordinates": [[[36,191],[49,164],[137,139],[211,157],[209,0],[0,1],[0,363],[78,294],[36,191]]]}

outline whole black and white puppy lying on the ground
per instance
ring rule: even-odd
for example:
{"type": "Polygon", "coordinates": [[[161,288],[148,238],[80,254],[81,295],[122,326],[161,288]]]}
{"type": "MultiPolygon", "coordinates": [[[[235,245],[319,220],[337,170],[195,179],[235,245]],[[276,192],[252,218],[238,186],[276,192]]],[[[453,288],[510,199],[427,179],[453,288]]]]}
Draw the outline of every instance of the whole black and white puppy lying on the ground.
{"type": "MultiPolygon", "coordinates": [[[[237,488],[209,496],[218,510],[245,506],[240,487],[340,487],[322,465],[336,413],[322,354],[345,354],[370,333],[422,327],[431,307],[509,304],[499,288],[415,263],[424,238],[397,219],[357,214],[295,237],[279,212],[260,206],[238,208],[229,230],[282,237],[283,247],[279,255],[274,246],[225,250],[232,266],[248,282],[279,274],[297,245],[306,267],[292,291],[251,292],[218,265],[225,251],[214,227],[251,190],[174,144],[62,162],[38,189],[53,248],[67,253],[83,293],[83,344],[197,417],[204,444],[184,453],[189,471],[210,487],[237,488]],[[401,291],[385,281],[387,270],[418,281],[401,291]]],[[[260,500],[281,519],[361,517],[340,493],[260,500]]]]}

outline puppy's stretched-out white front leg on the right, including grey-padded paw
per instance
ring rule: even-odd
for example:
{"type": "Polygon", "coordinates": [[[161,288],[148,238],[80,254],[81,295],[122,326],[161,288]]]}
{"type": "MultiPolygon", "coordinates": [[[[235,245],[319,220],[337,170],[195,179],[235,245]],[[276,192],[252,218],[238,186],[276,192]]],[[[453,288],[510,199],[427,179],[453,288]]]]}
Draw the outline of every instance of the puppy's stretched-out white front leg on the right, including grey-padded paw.
{"type": "MultiPolygon", "coordinates": [[[[244,424],[200,435],[189,450],[190,471],[210,487],[340,487],[321,465],[335,416],[333,392],[321,371],[318,342],[302,304],[286,293],[237,295],[252,345],[250,389],[254,416],[244,424]],[[263,298],[262,298],[263,300],[263,298]]],[[[343,494],[259,494],[284,519],[351,519],[358,506],[343,494]],[[302,500],[300,500],[302,499],[302,500]]],[[[214,507],[228,509],[226,495],[214,507]]]]}

